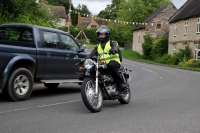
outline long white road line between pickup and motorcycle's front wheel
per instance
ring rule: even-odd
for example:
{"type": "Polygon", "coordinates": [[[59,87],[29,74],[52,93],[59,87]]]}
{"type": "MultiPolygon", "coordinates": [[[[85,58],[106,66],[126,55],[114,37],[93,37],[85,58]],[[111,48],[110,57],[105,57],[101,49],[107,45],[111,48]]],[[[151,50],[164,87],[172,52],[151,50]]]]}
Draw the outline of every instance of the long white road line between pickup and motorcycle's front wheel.
{"type": "Polygon", "coordinates": [[[35,106],[35,107],[28,107],[28,108],[19,108],[19,109],[13,109],[13,110],[8,110],[8,111],[2,111],[0,114],[4,113],[11,113],[11,112],[16,112],[16,111],[23,111],[23,110],[29,110],[29,109],[35,109],[35,108],[43,108],[43,107],[50,107],[50,106],[56,106],[56,105],[61,105],[61,104],[68,104],[68,103],[74,103],[81,101],[80,100],[73,100],[73,101],[67,101],[67,102],[61,102],[61,103],[53,103],[53,104],[47,104],[47,105],[40,105],[40,106],[35,106]]]}

